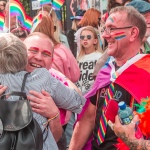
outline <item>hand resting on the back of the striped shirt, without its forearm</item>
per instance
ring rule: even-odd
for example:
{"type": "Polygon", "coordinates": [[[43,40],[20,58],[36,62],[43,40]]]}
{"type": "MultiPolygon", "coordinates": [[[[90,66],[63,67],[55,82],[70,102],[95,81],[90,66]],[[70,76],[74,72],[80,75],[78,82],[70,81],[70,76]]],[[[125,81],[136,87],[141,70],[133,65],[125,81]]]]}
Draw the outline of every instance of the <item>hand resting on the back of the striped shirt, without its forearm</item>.
{"type": "Polygon", "coordinates": [[[32,110],[46,118],[54,117],[58,112],[58,108],[55,105],[50,94],[42,90],[41,93],[36,91],[29,91],[32,95],[28,95],[27,98],[30,100],[32,110]]]}

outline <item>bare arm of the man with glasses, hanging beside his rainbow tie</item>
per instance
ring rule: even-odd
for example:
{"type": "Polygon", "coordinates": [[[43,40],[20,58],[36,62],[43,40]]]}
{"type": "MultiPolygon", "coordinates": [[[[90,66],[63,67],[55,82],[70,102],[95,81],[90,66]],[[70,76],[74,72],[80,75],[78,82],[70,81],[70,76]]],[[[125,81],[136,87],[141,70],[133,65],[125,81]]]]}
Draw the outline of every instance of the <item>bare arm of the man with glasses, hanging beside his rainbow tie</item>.
{"type": "Polygon", "coordinates": [[[82,118],[77,122],[70,142],[69,150],[81,150],[94,129],[95,109],[93,104],[89,104],[82,118]]]}

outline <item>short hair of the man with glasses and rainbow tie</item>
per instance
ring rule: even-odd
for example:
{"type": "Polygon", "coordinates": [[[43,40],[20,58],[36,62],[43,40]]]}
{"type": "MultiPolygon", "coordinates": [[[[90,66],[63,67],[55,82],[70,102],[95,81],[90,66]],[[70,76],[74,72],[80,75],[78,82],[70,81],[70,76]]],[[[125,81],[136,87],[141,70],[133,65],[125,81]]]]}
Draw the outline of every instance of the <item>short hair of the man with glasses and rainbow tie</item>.
{"type": "Polygon", "coordinates": [[[132,6],[118,6],[111,9],[110,14],[116,12],[126,12],[127,18],[126,23],[135,26],[139,29],[139,39],[142,41],[146,33],[146,22],[145,18],[132,6]]]}

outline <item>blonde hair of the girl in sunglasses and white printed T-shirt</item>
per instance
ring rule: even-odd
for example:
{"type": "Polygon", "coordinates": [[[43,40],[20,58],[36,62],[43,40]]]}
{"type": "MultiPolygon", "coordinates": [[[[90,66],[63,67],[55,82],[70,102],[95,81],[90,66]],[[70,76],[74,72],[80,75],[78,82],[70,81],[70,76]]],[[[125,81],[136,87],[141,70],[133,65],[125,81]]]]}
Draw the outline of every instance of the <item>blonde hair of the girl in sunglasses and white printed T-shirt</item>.
{"type": "MultiPolygon", "coordinates": [[[[97,39],[98,41],[97,41],[97,43],[95,44],[95,51],[98,51],[98,52],[101,52],[101,53],[103,53],[103,51],[102,51],[102,49],[101,49],[101,47],[100,47],[100,43],[99,43],[99,39],[98,39],[98,31],[96,31],[92,26],[87,26],[87,27],[85,27],[82,31],[81,31],[81,33],[83,32],[83,31],[91,31],[92,33],[93,33],[93,35],[94,35],[94,39],[97,39]]],[[[81,35],[81,33],[80,33],[80,35],[81,35]]],[[[77,60],[79,60],[81,57],[83,57],[85,55],[85,52],[84,52],[84,47],[80,44],[80,52],[79,52],[79,55],[78,55],[78,57],[77,57],[77,60]]]]}

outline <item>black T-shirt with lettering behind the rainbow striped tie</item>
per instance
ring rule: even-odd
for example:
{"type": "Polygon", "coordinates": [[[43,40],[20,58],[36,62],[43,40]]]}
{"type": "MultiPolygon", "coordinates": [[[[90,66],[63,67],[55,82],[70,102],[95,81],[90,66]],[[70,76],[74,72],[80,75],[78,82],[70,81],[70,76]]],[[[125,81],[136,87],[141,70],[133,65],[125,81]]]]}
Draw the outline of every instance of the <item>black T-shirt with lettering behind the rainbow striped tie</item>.
{"type": "MultiPolygon", "coordinates": [[[[130,105],[131,95],[124,90],[119,85],[115,84],[115,96],[114,99],[117,99],[117,102],[125,101],[127,105],[130,105]]],[[[96,110],[96,118],[95,118],[95,128],[94,128],[94,138],[92,141],[92,150],[117,150],[117,148],[114,146],[114,144],[117,143],[117,136],[115,135],[114,131],[107,126],[105,140],[102,144],[98,146],[96,142],[96,135],[98,131],[100,116],[102,113],[102,107],[105,99],[105,95],[107,93],[107,89],[109,86],[106,86],[100,90],[100,94],[98,97],[98,101],[96,102],[97,95],[94,95],[90,98],[90,101],[93,105],[96,105],[97,103],[97,110],[96,110]]]]}

